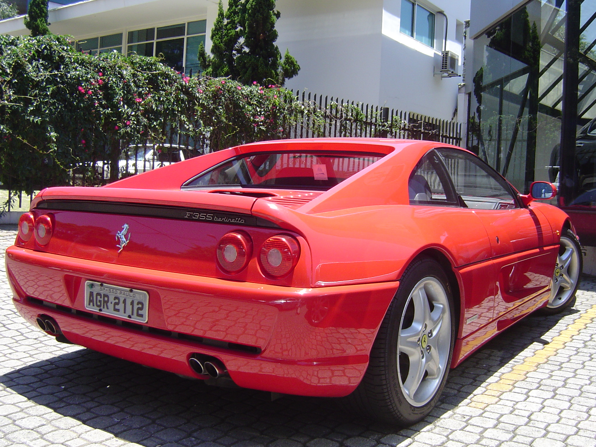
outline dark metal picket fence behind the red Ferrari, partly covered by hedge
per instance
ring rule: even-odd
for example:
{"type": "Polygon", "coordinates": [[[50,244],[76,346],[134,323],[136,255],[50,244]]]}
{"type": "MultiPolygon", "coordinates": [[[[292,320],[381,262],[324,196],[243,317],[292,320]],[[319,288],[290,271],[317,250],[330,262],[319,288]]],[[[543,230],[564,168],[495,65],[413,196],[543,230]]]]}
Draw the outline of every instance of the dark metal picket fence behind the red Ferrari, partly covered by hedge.
{"type": "MultiPolygon", "coordinates": [[[[283,138],[364,137],[426,139],[461,145],[461,123],[424,116],[395,108],[356,103],[311,92],[293,92],[303,105],[302,116],[286,125],[283,138]],[[316,111],[316,113],[313,113],[316,111]]],[[[116,179],[167,166],[211,151],[209,138],[191,138],[175,131],[168,132],[165,142],[132,145],[123,150],[116,179]]],[[[247,141],[249,142],[249,141],[247,141]]],[[[100,186],[114,180],[107,161],[82,162],[70,171],[67,185],[100,186]]],[[[46,185],[40,185],[42,189],[46,185]]],[[[5,186],[6,188],[6,186],[5,186]]],[[[17,202],[21,206],[23,193],[13,196],[8,188],[10,211],[17,202]]]]}

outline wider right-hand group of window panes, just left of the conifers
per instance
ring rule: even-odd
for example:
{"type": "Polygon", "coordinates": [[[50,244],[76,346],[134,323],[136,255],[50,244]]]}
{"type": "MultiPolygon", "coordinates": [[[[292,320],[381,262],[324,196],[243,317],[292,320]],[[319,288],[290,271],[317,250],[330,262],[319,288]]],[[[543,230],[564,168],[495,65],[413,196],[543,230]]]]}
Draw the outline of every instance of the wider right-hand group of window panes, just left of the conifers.
{"type": "Polygon", "coordinates": [[[207,21],[197,20],[128,32],[126,54],[163,55],[163,63],[179,72],[197,73],[198,46],[205,44],[207,21]]]}

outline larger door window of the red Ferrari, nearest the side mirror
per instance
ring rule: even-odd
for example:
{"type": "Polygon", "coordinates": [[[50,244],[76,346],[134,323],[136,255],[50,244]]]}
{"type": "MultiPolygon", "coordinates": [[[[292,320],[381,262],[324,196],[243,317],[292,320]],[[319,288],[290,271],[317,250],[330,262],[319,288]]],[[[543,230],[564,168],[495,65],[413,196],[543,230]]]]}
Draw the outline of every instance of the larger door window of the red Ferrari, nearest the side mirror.
{"type": "Polygon", "coordinates": [[[511,188],[492,167],[478,157],[457,149],[437,149],[453,184],[468,208],[517,208],[511,188]]]}

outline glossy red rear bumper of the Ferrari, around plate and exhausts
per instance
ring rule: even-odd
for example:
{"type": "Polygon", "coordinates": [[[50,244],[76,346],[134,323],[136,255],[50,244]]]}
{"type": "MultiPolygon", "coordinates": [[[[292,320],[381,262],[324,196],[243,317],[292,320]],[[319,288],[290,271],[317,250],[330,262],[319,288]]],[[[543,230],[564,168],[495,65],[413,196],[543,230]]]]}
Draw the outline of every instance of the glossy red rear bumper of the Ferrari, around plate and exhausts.
{"type": "Polygon", "coordinates": [[[343,396],[358,386],[398,287],[397,282],[321,288],[239,283],[15,246],[7,250],[6,263],[18,312],[32,324],[41,313],[52,316],[73,343],[194,377],[200,376],[188,358],[212,355],[239,386],[310,396],[343,396]],[[117,319],[86,311],[85,280],[147,290],[147,324],[123,327],[117,319]],[[216,346],[178,334],[215,340],[216,346]],[[219,342],[260,352],[226,349],[219,342]]]}

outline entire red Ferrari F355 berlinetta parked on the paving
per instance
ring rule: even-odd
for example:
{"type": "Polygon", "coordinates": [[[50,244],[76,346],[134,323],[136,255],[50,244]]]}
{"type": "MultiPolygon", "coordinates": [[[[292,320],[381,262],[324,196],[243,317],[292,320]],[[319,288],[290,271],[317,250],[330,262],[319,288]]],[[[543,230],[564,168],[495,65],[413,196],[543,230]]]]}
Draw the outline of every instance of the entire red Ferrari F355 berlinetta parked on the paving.
{"type": "Polygon", "coordinates": [[[42,191],[7,272],[62,342],[411,424],[450,367],[574,302],[573,226],[534,201],[555,193],[440,142],[259,142],[42,191]]]}

